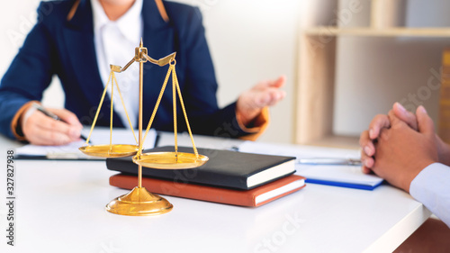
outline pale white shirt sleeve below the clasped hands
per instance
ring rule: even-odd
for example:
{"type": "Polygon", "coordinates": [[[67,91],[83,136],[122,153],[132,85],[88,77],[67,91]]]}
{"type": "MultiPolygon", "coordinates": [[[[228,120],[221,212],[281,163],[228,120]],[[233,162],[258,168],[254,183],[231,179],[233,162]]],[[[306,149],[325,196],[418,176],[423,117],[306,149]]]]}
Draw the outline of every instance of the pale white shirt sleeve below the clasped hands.
{"type": "Polygon", "coordinates": [[[410,194],[450,228],[450,167],[434,163],[424,168],[412,180],[410,194]]]}

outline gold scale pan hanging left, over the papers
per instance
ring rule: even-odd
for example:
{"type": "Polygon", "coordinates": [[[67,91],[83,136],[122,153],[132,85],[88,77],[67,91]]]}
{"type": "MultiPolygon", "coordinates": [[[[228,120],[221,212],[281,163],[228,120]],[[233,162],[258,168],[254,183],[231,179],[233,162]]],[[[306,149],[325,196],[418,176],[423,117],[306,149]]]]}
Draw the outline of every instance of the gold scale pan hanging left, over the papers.
{"type": "Polygon", "coordinates": [[[136,155],[139,150],[137,145],[129,144],[105,144],[92,145],[79,148],[81,152],[88,156],[97,158],[121,158],[136,155]]]}

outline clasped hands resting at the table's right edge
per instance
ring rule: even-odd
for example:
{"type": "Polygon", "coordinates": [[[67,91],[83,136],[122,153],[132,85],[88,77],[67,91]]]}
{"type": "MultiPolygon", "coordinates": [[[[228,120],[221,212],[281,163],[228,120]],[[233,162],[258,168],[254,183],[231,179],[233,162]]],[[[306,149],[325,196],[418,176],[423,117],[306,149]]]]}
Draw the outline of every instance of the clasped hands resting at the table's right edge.
{"type": "Polygon", "coordinates": [[[413,114],[401,104],[394,104],[387,115],[374,117],[359,144],[363,172],[373,171],[406,192],[428,165],[448,165],[448,145],[437,137],[434,123],[421,105],[413,114]]]}

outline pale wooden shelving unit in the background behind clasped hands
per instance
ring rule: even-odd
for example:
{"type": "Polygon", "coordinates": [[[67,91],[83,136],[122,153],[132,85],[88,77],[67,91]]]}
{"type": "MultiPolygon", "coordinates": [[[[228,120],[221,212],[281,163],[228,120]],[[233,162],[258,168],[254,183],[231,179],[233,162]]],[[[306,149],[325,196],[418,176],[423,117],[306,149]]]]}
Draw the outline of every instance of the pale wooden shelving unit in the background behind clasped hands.
{"type": "MultiPolygon", "coordinates": [[[[311,1],[311,12],[305,12],[303,16],[304,25],[299,38],[295,143],[359,149],[358,137],[334,134],[335,84],[340,70],[337,55],[338,50],[342,50],[338,41],[341,36],[450,38],[448,26],[407,27],[407,2],[369,0],[356,5],[355,1],[311,1]],[[353,14],[363,9],[367,11],[352,19],[353,14]],[[342,16],[344,13],[349,14],[347,19],[342,16]],[[341,26],[330,26],[335,23],[341,26]]],[[[358,45],[370,45],[368,41],[357,42],[358,45]]],[[[379,44],[385,43],[392,41],[379,44]]]]}

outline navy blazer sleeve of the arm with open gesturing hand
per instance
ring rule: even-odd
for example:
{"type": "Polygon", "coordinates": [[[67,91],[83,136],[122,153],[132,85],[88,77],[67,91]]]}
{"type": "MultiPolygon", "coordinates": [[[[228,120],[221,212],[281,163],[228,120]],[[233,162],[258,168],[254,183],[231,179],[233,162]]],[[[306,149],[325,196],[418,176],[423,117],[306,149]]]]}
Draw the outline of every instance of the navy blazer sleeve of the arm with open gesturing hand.
{"type": "Polygon", "coordinates": [[[218,86],[198,8],[191,9],[186,25],[180,30],[181,48],[187,52],[183,94],[193,133],[230,138],[248,134],[238,125],[236,103],[218,107],[218,86]]]}

